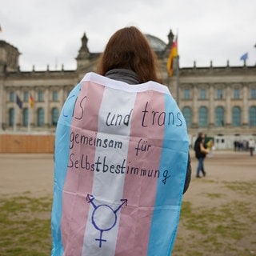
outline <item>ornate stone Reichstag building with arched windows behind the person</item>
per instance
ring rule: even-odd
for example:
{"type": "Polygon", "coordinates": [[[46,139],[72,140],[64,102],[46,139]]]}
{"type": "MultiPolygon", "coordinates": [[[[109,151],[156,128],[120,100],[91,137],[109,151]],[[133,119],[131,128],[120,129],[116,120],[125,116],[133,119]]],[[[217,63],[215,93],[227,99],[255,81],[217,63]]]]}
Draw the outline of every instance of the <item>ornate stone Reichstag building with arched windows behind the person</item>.
{"type": "MultiPolygon", "coordinates": [[[[170,88],[186,118],[191,145],[199,131],[214,138],[217,149],[231,149],[234,141],[256,139],[256,66],[230,66],[229,62],[213,66],[210,62],[197,67],[194,62],[169,77],[166,62],[174,34],[170,30],[167,44],[149,34],[146,38],[158,57],[162,83],[170,88]]],[[[90,53],[87,42],[83,34],[76,70],[62,66],[62,70],[21,71],[18,48],[0,41],[0,133],[54,133],[70,90],[84,74],[96,69],[100,53],[90,53]]]]}

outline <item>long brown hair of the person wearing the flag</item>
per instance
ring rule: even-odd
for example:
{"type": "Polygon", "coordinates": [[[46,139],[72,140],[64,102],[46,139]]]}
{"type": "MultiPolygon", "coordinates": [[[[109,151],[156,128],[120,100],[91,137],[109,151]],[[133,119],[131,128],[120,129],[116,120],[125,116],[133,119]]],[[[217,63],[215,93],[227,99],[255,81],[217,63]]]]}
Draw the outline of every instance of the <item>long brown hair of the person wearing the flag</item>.
{"type": "Polygon", "coordinates": [[[133,70],[140,82],[160,82],[156,57],[146,37],[135,26],[116,31],[106,44],[98,62],[98,74],[112,69],[133,70]]]}

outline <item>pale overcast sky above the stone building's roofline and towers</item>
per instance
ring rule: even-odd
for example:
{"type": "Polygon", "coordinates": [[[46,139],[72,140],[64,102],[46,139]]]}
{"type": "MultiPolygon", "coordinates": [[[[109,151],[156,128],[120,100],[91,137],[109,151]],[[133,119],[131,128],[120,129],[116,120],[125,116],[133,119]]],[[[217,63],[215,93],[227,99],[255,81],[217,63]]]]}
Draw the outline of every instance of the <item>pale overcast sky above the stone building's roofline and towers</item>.
{"type": "Polygon", "coordinates": [[[102,52],[114,32],[137,26],[168,41],[178,33],[180,66],[256,63],[256,0],[0,0],[0,40],[18,48],[21,70],[76,68],[86,33],[102,52]]]}

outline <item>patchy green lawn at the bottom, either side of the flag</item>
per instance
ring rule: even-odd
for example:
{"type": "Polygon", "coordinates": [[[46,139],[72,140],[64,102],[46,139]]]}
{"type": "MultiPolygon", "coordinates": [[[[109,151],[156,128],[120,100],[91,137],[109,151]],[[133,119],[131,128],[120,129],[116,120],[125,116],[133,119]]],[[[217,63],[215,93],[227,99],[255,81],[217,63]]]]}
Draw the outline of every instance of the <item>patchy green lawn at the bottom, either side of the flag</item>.
{"type": "MultiPolygon", "coordinates": [[[[244,199],[234,197],[218,204],[225,194],[216,191],[205,194],[212,204],[201,208],[184,201],[173,256],[256,255],[256,184],[222,182],[222,186],[244,199]]],[[[49,256],[51,205],[52,198],[33,198],[29,192],[13,198],[2,196],[0,255],[49,256]]]]}

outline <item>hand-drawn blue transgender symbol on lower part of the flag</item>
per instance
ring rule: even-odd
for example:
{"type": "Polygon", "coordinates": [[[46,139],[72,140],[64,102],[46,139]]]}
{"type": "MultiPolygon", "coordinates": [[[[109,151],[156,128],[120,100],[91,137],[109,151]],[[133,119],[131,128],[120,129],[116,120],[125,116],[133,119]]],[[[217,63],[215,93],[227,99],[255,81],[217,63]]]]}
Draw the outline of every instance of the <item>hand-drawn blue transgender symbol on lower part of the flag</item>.
{"type": "Polygon", "coordinates": [[[121,199],[120,201],[122,204],[118,206],[116,210],[107,205],[96,206],[94,199],[95,198],[93,195],[87,194],[86,201],[94,206],[94,211],[91,215],[91,221],[95,229],[100,231],[99,238],[95,238],[95,240],[99,242],[99,247],[102,247],[102,242],[106,242],[105,239],[102,239],[103,231],[109,231],[116,225],[118,219],[117,212],[123,205],[127,206],[127,199],[121,199]]]}

